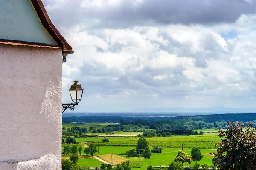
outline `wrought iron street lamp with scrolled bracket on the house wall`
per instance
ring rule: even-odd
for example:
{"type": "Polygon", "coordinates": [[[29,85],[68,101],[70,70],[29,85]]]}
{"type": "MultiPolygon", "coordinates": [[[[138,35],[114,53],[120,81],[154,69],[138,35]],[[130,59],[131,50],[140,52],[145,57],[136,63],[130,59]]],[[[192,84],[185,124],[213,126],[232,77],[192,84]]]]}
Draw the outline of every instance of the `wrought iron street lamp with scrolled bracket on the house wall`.
{"type": "Polygon", "coordinates": [[[74,103],[63,103],[62,104],[62,113],[69,108],[71,111],[75,109],[75,105],[78,105],[78,103],[82,100],[83,91],[84,89],[80,84],[78,84],[78,81],[74,81],[74,84],[71,85],[70,89],[70,97],[71,100],[74,103]]]}

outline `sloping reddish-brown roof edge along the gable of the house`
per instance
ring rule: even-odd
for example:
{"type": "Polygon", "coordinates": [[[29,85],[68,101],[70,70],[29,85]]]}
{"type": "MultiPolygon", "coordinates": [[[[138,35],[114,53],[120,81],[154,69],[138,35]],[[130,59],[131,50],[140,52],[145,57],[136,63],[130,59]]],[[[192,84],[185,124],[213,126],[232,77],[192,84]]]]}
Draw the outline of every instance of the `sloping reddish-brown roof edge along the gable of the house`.
{"type": "Polygon", "coordinates": [[[64,51],[72,51],[72,47],[67,43],[58,29],[52,24],[52,21],[50,20],[42,1],[31,0],[31,3],[33,4],[38,17],[41,20],[42,25],[49,32],[52,38],[58,43],[60,47],[64,48],[64,51]]]}

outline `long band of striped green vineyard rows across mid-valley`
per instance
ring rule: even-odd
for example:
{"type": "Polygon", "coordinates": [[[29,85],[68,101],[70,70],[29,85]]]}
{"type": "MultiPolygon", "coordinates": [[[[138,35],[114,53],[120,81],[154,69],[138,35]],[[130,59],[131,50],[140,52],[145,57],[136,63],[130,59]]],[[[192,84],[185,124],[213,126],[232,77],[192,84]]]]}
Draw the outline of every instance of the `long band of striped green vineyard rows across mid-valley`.
{"type": "MultiPolygon", "coordinates": [[[[108,143],[102,143],[102,137],[98,138],[76,138],[78,142],[99,142],[104,146],[136,146],[139,137],[108,137],[108,143]]],[[[183,144],[184,148],[215,149],[215,144],[220,142],[218,134],[171,136],[147,138],[150,147],[178,147],[183,144]]]]}

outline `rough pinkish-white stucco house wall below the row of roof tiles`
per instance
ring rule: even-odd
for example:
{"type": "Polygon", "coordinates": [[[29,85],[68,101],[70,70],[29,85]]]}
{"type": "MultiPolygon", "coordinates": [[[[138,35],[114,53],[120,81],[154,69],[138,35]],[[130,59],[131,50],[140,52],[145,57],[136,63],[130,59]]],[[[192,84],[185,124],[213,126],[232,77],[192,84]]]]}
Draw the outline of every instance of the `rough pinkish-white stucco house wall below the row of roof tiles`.
{"type": "Polygon", "coordinates": [[[62,52],[0,45],[0,170],[61,169],[62,52]]]}

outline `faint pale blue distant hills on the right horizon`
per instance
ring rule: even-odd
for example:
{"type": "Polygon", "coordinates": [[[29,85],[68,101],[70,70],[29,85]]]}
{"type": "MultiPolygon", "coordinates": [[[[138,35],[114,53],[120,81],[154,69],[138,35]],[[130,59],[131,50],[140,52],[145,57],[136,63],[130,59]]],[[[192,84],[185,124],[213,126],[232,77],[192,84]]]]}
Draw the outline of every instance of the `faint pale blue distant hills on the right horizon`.
{"type": "Polygon", "coordinates": [[[212,107],[212,108],[141,108],[132,112],[149,112],[149,113],[256,113],[256,108],[227,108],[227,107],[212,107]]]}

